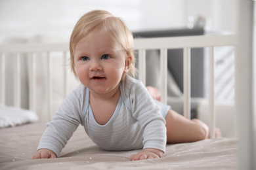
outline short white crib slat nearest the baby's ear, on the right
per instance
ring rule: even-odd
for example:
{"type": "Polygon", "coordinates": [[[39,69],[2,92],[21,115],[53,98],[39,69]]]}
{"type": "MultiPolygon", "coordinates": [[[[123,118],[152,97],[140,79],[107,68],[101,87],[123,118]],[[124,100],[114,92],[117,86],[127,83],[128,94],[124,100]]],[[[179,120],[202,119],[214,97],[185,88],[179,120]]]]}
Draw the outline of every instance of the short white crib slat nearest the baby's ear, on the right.
{"type": "Polygon", "coordinates": [[[139,80],[146,85],[146,50],[139,50],[139,80]]]}

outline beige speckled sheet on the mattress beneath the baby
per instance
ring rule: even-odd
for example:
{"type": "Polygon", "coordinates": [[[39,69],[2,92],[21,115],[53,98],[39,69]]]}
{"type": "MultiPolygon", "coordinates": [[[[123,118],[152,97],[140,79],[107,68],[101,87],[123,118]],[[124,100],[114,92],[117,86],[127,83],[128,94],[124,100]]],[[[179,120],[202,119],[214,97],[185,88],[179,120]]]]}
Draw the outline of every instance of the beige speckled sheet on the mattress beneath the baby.
{"type": "Polygon", "coordinates": [[[0,169],[235,169],[236,139],[205,139],[196,143],[167,144],[163,158],[131,161],[139,150],[101,150],[79,126],[56,159],[29,160],[45,124],[32,123],[0,129],[0,169]]]}

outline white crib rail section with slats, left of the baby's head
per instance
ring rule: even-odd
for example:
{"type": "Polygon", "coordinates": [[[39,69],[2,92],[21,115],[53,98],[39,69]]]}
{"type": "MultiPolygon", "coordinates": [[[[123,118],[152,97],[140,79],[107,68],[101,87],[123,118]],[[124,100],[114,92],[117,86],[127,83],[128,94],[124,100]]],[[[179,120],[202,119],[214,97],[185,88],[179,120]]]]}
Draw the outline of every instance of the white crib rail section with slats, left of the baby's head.
{"type": "MultiPolygon", "coordinates": [[[[66,53],[69,50],[68,43],[59,43],[59,44],[2,44],[0,46],[0,103],[6,103],[6,54],[15,54],[14,56],[14,107],[20,107],[20,86],[21,86],[21,75],[20,75],[20,55],[28,54],[30,65],[29,65],[29,109],[36,112],[36,59],[38,52],[47,53],[47,101],[48,101],[48,120],[51,119],[53,115],[53,77],[52,77],[52,59],[50,57],[51,52],[64,52],[64,63],[66,63],[67,56],[66,53]]],[[[68,76],[66,76],[66,69],[64,69],[64,82],[68,82],[68,76]]],[[[64,85],[64,94],[68,93],[66,84],[64,85]]]]}

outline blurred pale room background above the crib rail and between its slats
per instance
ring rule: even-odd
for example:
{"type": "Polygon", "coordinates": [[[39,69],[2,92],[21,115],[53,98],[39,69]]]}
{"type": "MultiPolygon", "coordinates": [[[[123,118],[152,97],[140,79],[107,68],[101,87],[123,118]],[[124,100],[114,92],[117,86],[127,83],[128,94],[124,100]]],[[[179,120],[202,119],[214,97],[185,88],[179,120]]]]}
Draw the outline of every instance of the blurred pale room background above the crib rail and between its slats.
{"type": "MultiPolygon", "coordinates": [[[[108,10],[123,19],[127,27],[137,37],[173,37],[188,35],[208,35],[236,33],[236,0],[0,0],[0,44],[7,43],[68,43],[75,23],[90,10],[108,10]]],[[[160,89],[160,53],[158,50],[146,52],[146,85],[160,89]],[[150,68],[150,69],[148,69],[150,68]]],[[[37,113],[41,122],[49,119],[47,113],[47,63],[45,54],[37,59],[37,113]],[[45,103],[44,103],[45,102],[45,103]]],[[[207,49],[191,50],[191,114],[207,122],[207,49]],[[206,99],[206,101],[205,101],[206,99]],[[200,112],[202,114],[200,114],[200,112]]],[[[60,63],[60,54],[54,54],[53,63],[60,63]]],[[[13,63],[7,56],[7,83],[13,84],[11,73],[13,63]],[[9,74],[10,73],[10,74],[9,74]],[[8,75],[9,74],[9,75],[8,75]]],[[[26,54],[22,57],[22,75],[28,76],[29,62],[26,54]]],[[[168,50],[168,104],[173,110],[183,112],[183,69],[182,49],[168,50]]],[[[218,124],[223,136],[234,136],[234,48],[218,47],[215,54],[215,97],[217,101],[218,124]],[[223,104],[224,103],[224,104],[223,104]],[[224,112],[224,114],[223,114],[224,112]],[[226,124],[229,120],[230,124],[226,124]],[[226,131],[224,130],[226,129],[226,131]]],[[[54,84],[62,83],[59,73],[53,71],[54,84]]],[[[28,108],[28,78],[23,78],[22,107],[28,108]]],[[[73,79],[70,79],[73,80],[73,79]]],[[[72,82],[72,81],[70,81],[72,82]]],[[[71,84],[71,83],[70,83],[71,84]]],[[[73,84],[72,84],[73,85],[73,84]]],[[[74,86],[70,85],[73,89],[74,86]]],[[[77,84],[75,84],[77,86],[77,84]]],[[[62,88],[53,86],[54,112],[62,103],[62,88]]],[[[12,93],[13,87],[7,86],[12,93]]],[[[12,95],[7,95],[7,105],[12,95]]],[[[50,113],[50,114],[53,114],[50,113]]]]}

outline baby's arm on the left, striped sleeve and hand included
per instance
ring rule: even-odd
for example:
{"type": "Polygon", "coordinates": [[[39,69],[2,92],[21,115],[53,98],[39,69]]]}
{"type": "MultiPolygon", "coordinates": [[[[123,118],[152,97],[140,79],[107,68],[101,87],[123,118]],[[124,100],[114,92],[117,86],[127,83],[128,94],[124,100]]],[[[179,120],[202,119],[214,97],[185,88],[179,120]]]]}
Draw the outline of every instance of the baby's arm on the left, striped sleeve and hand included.
{"type": "Polygon", "coordinates": [[[79,101],[81,99],[76,90],[64,99],[51,122],[47,123],[47,128],[40,139],[37,152],[31,159],[58,157],[75,129],[81,124],[79,101]]]}

